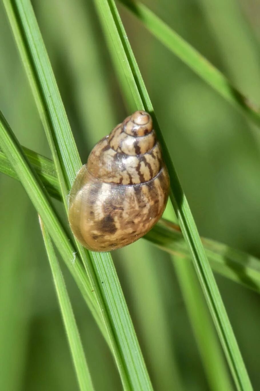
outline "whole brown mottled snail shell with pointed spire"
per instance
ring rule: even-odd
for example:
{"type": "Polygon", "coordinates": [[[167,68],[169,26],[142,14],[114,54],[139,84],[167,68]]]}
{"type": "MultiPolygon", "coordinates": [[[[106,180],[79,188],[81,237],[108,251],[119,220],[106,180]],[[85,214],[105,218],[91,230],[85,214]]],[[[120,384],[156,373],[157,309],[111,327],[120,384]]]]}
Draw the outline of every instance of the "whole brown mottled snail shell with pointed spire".
{"type": "Polygon", "coordinates": [[[69,224],[87,249],[111,251],[133,243],[160,219],[169,176],[152,118],[136,111],[100,140],[69,194],[69,224]]]}

